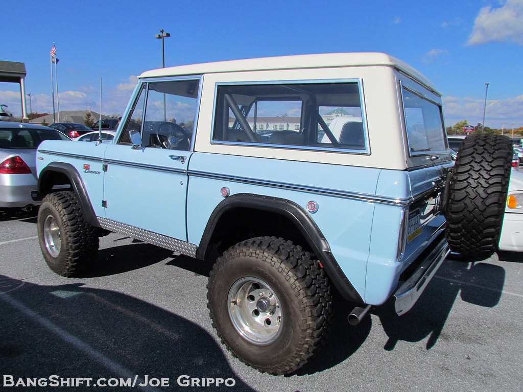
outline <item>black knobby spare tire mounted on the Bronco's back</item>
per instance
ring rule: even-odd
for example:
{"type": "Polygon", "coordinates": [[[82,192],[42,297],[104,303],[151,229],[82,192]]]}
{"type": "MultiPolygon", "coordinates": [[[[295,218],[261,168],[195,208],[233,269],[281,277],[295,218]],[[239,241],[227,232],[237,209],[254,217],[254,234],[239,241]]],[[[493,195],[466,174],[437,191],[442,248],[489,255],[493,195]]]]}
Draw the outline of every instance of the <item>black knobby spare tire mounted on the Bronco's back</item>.
{"type": "Polygon", "coordinates": [[[506,136],[477,134],[463,140],[445,208],[451,251],[489,257],[498,249],[513,153],[506,136]]]}

